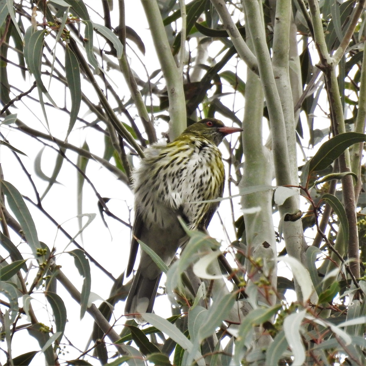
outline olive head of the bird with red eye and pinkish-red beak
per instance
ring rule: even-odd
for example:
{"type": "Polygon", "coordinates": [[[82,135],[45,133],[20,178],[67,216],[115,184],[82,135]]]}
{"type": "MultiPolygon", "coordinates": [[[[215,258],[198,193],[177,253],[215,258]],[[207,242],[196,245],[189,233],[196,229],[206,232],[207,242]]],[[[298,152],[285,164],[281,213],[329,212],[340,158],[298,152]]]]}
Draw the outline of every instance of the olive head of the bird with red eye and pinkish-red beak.
{"type": "Polygon", "coordinates": [[[219,145],[226,135],[240,131],[243,131],[243,129],[239,127],[227,127],[216,118],[205,118],[191,124],[191,126],[182,132],[181,136],[194,135],[203,137],[219,145]]]}

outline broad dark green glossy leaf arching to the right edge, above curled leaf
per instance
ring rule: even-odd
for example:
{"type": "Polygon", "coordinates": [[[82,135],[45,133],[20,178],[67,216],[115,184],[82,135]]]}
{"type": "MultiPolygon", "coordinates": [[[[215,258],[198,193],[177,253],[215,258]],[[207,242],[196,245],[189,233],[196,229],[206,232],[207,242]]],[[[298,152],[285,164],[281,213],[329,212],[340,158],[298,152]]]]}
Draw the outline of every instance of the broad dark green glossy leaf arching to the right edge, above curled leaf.
{"type": "Polygon", "coordinates": [[[344,152],[344,150],[347,149],[347,147],[363,141],[366,141],[366,135],[357,132],[345,132],[344,134],[332,137],[324,142],[317,153],[311,158],[309,174],[327,168],[344,152]]]}

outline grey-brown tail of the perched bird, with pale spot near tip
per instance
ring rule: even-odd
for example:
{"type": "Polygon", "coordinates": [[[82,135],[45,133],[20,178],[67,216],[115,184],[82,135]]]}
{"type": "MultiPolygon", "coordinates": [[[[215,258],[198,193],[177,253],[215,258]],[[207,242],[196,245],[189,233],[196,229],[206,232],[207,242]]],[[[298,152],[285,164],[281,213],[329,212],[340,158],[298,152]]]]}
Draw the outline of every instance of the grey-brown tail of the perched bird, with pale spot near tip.
{"type": "Polygon", "coordinates": [[[160,277],[161,274],[150,280],[143,276],[141,269],[136,271],[127,296],[125,314],[152,313],[160,277]]]}

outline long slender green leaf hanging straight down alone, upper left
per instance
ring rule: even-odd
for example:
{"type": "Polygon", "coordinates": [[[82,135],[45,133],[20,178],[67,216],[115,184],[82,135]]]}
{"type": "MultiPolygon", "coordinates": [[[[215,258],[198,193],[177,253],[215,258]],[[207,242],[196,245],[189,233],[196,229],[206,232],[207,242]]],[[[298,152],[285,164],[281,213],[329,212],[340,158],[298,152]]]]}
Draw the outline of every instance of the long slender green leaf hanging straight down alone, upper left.
{"type": "Polygon", "coordinates": [[[78,59],[76,59],[76,56],[74,55],[74,52],[72,52],[67,45],[65,51],[65,73],[67,85],[69,87],[71,95],[70,123],[67,129],[67,138],[72,128],[74,127],[81,104],[81,81],[79,63],[78,59]]]}

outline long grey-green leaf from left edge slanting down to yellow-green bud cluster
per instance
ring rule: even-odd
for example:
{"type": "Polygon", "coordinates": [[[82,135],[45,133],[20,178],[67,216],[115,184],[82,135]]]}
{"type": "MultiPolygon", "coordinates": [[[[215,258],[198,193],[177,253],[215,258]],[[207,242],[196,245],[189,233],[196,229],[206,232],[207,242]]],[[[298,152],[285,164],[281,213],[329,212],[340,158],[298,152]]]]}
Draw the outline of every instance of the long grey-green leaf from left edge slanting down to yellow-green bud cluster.
{"type": "Polygon", "coordinates": [[[36,225],[19,191],[9,182],[2,181],[3,192],[8,200],[9,206],[19,221],[24,236],[30,246],[32,253],[37,258],[37,248],[41,247],[38,240],[36,225]]]}

